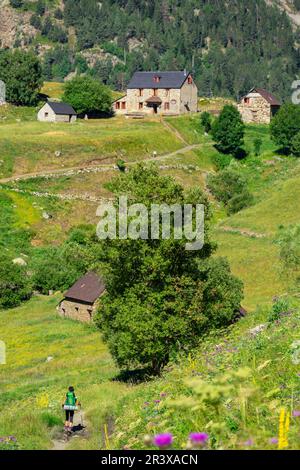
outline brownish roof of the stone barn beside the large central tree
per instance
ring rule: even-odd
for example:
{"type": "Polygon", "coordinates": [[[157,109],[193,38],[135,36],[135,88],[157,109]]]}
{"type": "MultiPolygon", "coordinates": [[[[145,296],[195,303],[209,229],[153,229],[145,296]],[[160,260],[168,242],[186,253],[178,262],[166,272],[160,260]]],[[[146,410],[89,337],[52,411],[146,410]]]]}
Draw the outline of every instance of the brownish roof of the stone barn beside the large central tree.
{"type": "Polygon", "coordinates": [[[93,304],[105,291],[103,279],[93,272],[87,273],[68,290],[67,299],[93,304]]]}

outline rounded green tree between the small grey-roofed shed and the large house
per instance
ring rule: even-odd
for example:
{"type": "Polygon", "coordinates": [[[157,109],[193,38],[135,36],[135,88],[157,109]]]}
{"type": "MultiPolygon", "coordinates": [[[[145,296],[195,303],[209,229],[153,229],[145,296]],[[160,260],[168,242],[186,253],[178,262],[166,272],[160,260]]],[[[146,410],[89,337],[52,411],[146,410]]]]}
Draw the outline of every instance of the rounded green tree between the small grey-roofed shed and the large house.
{"type": "Polygon", "coordinates": [[[112,95],[108,87],[89,76],[77,76],[65,84],[63,100],[78,114],[109,113],[112,95]]]}

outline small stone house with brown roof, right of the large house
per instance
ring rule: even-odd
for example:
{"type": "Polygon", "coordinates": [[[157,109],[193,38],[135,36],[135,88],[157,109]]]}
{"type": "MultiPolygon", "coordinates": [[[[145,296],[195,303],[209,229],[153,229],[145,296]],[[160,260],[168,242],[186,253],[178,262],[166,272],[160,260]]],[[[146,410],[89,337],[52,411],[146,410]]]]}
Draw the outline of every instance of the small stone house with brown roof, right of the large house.
{"type": "Polygon", "coordinates": [[[278,99],[263,88],[252,88],[238,104],[238,110],[245,123],[270,124],[280,109],[278,99]]]}

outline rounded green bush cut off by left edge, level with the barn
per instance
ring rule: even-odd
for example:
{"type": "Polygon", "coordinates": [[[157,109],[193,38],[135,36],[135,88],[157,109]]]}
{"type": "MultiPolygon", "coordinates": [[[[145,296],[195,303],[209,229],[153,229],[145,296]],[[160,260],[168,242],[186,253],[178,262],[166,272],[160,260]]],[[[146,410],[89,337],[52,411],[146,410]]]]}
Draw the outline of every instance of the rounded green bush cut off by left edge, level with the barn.
{"type": "Polygon", "coordinates": [[[0,259],[0,309],[17,307],[32,295],[26,268],[13,264],[9,258],[0,259]]]}

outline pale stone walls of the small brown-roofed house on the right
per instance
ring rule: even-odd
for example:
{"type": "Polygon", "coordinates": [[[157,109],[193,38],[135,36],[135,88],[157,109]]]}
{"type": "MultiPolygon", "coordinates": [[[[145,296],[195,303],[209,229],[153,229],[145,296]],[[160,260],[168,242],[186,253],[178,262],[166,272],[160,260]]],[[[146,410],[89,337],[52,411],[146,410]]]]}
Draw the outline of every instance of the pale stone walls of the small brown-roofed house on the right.
{"type": "Polygon", "coordinates": [[[270,124],[271,122],[271,105],[258,93],[250,93],[243,98],[238,110],[245,123],[270,124]]]}

